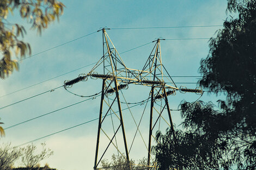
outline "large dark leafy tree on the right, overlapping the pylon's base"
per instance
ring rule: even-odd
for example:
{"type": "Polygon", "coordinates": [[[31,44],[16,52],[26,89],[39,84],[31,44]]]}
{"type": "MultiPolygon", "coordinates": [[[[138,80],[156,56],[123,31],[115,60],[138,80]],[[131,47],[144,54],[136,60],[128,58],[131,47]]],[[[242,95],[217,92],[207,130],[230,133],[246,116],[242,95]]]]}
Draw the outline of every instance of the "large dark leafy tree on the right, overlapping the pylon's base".
{"type": "Polygon", "coordinates": [[[181,103],[184,131],[157,134],[153,148],[159,169],[256,169],[256,1],[228,1],[238,17],[210,39],[199,68],[200,86],[216,94],[219,106],[181,103]],[[178,161],[179,160],[179,161],[178,161]]]}

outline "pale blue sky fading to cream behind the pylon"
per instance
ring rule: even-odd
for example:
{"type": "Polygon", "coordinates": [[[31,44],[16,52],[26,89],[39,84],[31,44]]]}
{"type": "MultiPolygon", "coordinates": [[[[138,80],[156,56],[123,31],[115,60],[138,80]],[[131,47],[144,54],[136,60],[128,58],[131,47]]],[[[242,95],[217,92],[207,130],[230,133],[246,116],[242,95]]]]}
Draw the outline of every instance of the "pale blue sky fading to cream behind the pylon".
{"type": "MultiPolygon", "coordinates": [[[[9,16],[10,22],[25,24],[27,35],[25,41],[31,43],[32,54],[61,45],[83,35],[93,33],[102,27],[108,28],[133,28],[133,27],[176,27],[176,26],[210,26],[222,25],[227,15],[225,8],[227,1],[62,1],[66,8],[59,22],[54,22],[36,35],[26,21],[21,21],[17,16],[9,16]]],[[[15,14],[15,13],[14,13],[15,14]]],[[[216,30],[222,27],[200,28],[166,28],[166,29],[111,29],[107,30],[109,37],[119,53],[144,45],[162,37],[163,39],[210,38],[216,30]]],[[[141,69],[147,60],[154,43],[121,54],[127,67],[141,69]]],[[[198,68],[200,60],[208,55],[208,40],[166,40],[161,41],[161,52],[164,66],[169,74],[200,75],[198,68]]],[[[98,32],[50,51],[35,55],[20,63],[20,71],[14,72],[10,77],[0,80],[0,96],[20,90],[24,87],[56,77],[77,68],[92,64],[102,56],[102,33],[98,32]]],[[[63,85],[64,80],[74,79],[80,73],[88,73],[93,66],[65,74],[39,85],[29,87],[11,95],[0,97],[1,107],[17,102],[21,99],[37,95],[55,87],[63,85]]],[[[173,78],[175,82],[197,82],[197,78],[173,78]]],[[[92,95],[101,91],[101,80],[89,79],[74,85],[70,90],[80,95],[92,95]]],[[[178,84],[180,86],[181,84],[178,84]]],[[[195,84],[184,84],[188,88],[196,87],[195,84]]],[[[127,102],[139,102],[148,98],[149,88],[129,86],[124,90],[127,102]],[[128,101],[129,100],[129,101],[128,101]]],[[[199,96],[195,94],[181,94],[169,96],[171,109],[177,109],[182,100],[193,102],[199,96]]],[[[223,96],[220,96],[223,98],[223,96]]],[[[205,102],[215,102],[219,97],[205,93],[202,98],[205,102]]],[[[26,121],[29,118],[46,114],[64,106],[80,102],[84,98],[71,95],[64,88],[45,93],[33,99],[9,106],[0,110],[1,121],[4,128],[15,123],[26,121]]],[[[123,99],[121,99],[123,100],[123,99]]],[[[99,115],[100,97],[88,100],[67,109],[35,119],[7,129],[2,142],[11,142],[13,146],[34,140],[59,130],[90,121],[99,115]]],[[[132,108],[138,122],[145,105],[132,108]]],[[[122,105],[122,108],[126,108],[122,105]]],[[[149,107],[148,107],[149,109],[149,107]]],[[[148,140],[149,110],[143,117],[144,122],[140,130],[148,140]]],[[[172,112],[173,122],[177,128],[182,119],[178,111],[172,112]]],[[[124,124],[127,143],[131,144],[136,126],[130,112],[124,111],[124,124]]],[[[162,130],[167,128],[164,123],[162,130]]],[[[106,125],[106,131],[111,133],[111,126],[106,125]]],[[[97,121],[81,125],[77,128],[66,130],[62,133],[45,137],[34,142],[38,145],[46,142],[47,147],[54,151],[54,155],[46,160],[50,167],[66,170],[93,169],[97,121]]],[[[103,136],[103,135],[102,135],[103,136]]],[[[120,137],[119,139],[120,140],[120,137]]],[[[154,141],[154,140],[153,140],[154,141]]],[[[107,138],[102,137],[102,152],[107,138]]],[[[134,149],[131,150],[132,159],[141,159],[147,156],[147,150],[140,136],[136,136],[134,149]],[[138,152],[139,150],[139,152],[138,152]]],[[[121,148],[120,148],[121,149],[121,148]]],[[[124,150],[122,151],[124,152],[124,150]]],[[[106,158],[115,152],[112,147],[106,158]]]]}

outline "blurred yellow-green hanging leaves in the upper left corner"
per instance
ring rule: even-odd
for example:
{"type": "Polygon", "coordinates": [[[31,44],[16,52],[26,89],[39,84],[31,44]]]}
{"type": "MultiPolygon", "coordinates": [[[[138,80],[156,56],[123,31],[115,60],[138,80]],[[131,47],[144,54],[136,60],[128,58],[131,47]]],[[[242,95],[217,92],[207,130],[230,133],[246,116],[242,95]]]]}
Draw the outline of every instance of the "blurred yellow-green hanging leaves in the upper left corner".
{"type": "Polygon", "coordinates": [[[48,24],[58,19],[63,13],[64,5],[56,0],[1,0],[0,1],[0,78],[5,78],[18,70],[16,60],[11,58],[11,51],[16,56],[24,58],[31,54],[31,47],[28,43],[20,40],[20,36],[26,34],[23,26],[8,21],[8,14],[13,10],[19,10],[21,18],[27,18],[32,23],[32,28],[37,29],[41,34],[48,24]]]}

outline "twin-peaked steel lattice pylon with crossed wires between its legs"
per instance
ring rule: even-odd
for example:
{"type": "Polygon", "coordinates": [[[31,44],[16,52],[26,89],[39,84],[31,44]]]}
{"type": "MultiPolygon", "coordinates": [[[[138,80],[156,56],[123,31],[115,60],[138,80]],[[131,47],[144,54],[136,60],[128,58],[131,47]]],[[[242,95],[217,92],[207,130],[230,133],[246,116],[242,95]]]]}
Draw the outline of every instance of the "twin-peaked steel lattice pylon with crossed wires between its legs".
{"type": "MultiPolygon", "coordinates": [[[[181,92],[195,92],[198,94],[201,94],[203,91],[202,89],[193,90],[186,89],[185,87],[179,89],[175,85],[172,77],[170,77],[170,74],[167,72],[166,68],[162,64],[160,46],[161,39],[153,41],[155,42],[155,46],[152,49],[149,57],[147,58],[142,70],[137,70],[129,68],[125,65],[124,61],[121,59],[117,49],[114,47],[105,29],[102,29],[102,38],[103,56],[92,68],[92,70],[88,74],[81,74],[80,77],[74,80],[65,81],[64,83],[64,86],[68,87],[72,84],[77,83],[78,81],[87,80],[88,77],[91,77],[93,79],[102,79],[102,89],[100,92],[100,114],[97,129],[94,169],[99,169],[100,161],[103,159],[107,150],[109,150],[111,146],[117,149],[118,155],[120,154],[120,156],[123,156],[129,164],[129,154],[137,132],[141,136],[145,149],[147,150],[147,169],[154,169],[157,165],[155,164],[153,155],[151,154],[151,143],[153,140],[152,138],[156,140],[153,131],[156,131],[157,127],[159,130],[160,122],[162,120],[166,122],[167,127],[169,127],[172,131],[174,146],[178,144],[176,142],[174,125],[172,122],[172,116],[170,114],[167,96],[175,95],[176,91],[179,90],[181,92]],[[128,89],[128,86],[132,84],[135,86],[142,85],[142,87],[148,86],[151,89],[149,91],[149,97],[146,99],[147,104],[145,104],[146,100],[143,100],[142,102],[142,104],[145,104],[145,107],[141,116],[142,119],[143,115],[147,115],[147,112],[149,112],[148,141],[145,140],[143,134],[139,130],[141,119],[139,120],[139,123],[138,121],[136,122],[136,119],[133,117],[132,111],[129,108],[129,104],[126,102],[125,95],[122,92],[123,89],[128,89]],[[120,94],[123,96],[125,102],[121,102],[120,94]],[[123,112],[121,109],[121,104],[123,103],[126,103],[132,119],[136,124],[135,136],[133,137],[131,143],[127,143],[124,125],[127,120],[123,118],[123,112]],[[149,110],[146,110],[147,107],[150,107],[149,110]],[[114,110],[118,110],[118,112],[114,110]],[[107,115],[111,115],[111,120],[108,122],[106,120],[107,115]],[[109,135],[109,133],[107,133],[107,131],[105,130],[105,128],[109,128],[109,125],[112,125],[113,128],[113,132],[111,135],[109,135]],[[118,131],[121,131],[119,137],[117,137],[118,131]],[[109,141],[108,144],[104,144],[101,142],[101,132],[107,137],[109,141]],[[121,141],[120,138],[122,139],[121,141]],[[123,148],[124,152],[121,151],[121,148],[123,148]]],[[[177,169],[179,169],[179,167],[177,167],[177,169]]]]}

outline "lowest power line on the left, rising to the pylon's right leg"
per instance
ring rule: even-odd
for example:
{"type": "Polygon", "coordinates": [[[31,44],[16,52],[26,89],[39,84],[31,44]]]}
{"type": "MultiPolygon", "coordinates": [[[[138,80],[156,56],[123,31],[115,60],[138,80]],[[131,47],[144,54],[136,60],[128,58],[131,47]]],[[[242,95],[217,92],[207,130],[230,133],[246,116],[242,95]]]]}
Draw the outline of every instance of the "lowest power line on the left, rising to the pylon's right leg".
{"type": "MultiPolygon", "coordinates": [[[[138,105],[141,105],[141,104],[136,104],[136,105],[133,105],[133,106],[131,106],[131,107],[129,107],[129,108],[133,108],[133,107],[138,106],[138,105]]],[[[129,109],[129,108],[122,109],[121,111],[123,111],[123,110],[127,110],[127,109],[129,109]]],[[[115,113],[118,113],[118,112],[119,112],[119,111],[116,111],[115,113]]],[[[112,113],[112,114],[114,114],[114,113],[112,113]]],[[[109,116],[109,115],[112,115],[112,114],[108,114],[108,115],[106,115],[106,116],[109,116]]],[[[36,139],[34,139],[34,140],[32,140],[32,141],[28,141],[28,142],[25,142],[25,143],[19,144],[19,145],[15,146],[14,148],[21,147],[21,146],[23,146],[23,145],[25,145],[25,144],[28,144],[28,143],[32,143],[32,142],[35,142],[35,141],[41,140],[42,138],[45,138],[45,137],[48,137],[48,136],[52,136],[52,135],[58,134],[58,133],[61,133],[61,132],[63,132],[63,131],[69,130],[69,129],[76,128],[76,127],[78,127],[78,126],[80,126],[80,125],[83,125],[83,124],[87,124],[87,123],[90,123],[90,122],[96,121],[97,119],[99,119],[99,118],[95,118],[95,119],[92,119],[92,120],[90,120],[90,121],[87,121],[87,122],[84,122],[84,123],[81,123],[81,124],[74,125],[73,127],[66,128],[66,129],[63,129],[63,130],[57,131],[57,132],[55,132],[55,133],[52,133],[52,134],[49,134],[49,135],[45,135],[45,136],[42,136],[42,137],[36,138],[36,139]]]]}

